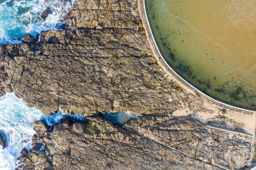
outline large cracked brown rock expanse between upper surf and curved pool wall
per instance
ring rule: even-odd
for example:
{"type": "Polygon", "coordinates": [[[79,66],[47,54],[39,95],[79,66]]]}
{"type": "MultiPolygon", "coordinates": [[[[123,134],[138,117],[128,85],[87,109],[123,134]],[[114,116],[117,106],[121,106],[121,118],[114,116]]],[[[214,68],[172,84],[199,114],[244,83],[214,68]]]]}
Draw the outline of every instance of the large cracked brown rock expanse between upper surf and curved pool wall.
{"type": "Polygon", "coordinates": [[[1,94],[15,90],[46,115],[213,112],[202,96],[166,78],[151,54],[137,5],[137,0],[81,0],[66,16],[65,30],[42,32],[38,44],[1,45],[1,94]]]}

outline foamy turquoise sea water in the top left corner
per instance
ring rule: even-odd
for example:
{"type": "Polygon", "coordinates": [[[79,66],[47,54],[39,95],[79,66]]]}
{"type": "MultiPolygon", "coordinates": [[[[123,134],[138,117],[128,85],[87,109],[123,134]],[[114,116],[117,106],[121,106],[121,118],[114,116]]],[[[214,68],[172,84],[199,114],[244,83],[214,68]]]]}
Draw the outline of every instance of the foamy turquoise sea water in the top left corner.
{"type": "Polygon", "coordinates": [[[58,23],[75,0],[0,0],[0,44],[20,43],[30,33],[60,29],[58,23]],[[39,14],[49,7],[44,22],[39,14]]]}

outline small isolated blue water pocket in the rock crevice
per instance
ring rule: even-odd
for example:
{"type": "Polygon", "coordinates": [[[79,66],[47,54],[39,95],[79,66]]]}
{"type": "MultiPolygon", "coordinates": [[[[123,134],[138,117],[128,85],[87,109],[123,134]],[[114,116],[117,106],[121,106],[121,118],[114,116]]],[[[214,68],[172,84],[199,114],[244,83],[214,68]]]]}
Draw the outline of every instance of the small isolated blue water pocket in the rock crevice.
{"type": "Polygon", "coordinates": [[[110,120],[113,124],[122,126],[124,123],[126,123],[130,118],[137,119],[138,117],[142,115],[138,114],[131,114],[130,112],[115,112],[115,113],[105,113],[103,114],[104,118],[107,118],[110,120]]]}

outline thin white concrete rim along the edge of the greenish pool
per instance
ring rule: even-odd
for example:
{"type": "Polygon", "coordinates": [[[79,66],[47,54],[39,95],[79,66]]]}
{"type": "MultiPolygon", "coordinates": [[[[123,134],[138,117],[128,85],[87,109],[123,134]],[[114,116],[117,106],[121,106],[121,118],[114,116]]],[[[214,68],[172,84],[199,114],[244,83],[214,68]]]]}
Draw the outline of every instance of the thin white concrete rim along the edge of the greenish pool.
{"type": "Polygon", "coordinates": [[[184,81],[184,82],[185,82],[186,84],[188,84],[190,87],[192,87],[192,89],[196,90],[197,92],[199,92],[200,94],[204,95],[205,97],[207,97],[207,98],[209,98],[209,99],[215,101],[216,103],[223,104],[223,105],[225,105],[225,106],[227,106],[227,107],[231,107],[231,108],[234,108],[234,109],[240,109],[240,110],[244,110],[244,111],[247,111],[247,112],[256,113],[256,111],[253,111],[253,110],[248,110],[248,109],[243,109],[243,108],[240,108],[240,107],[235,107],[235,106],[232,106],[232,105],[230,105],[230,104],[226,104],[226,103],[223,103],[223,102],[221,102],[221,101],[218,101],[218,100],[216,100],[216,99],[210,97],[209,95],[207,95],[207,94],[201,92],[200,90],[198,90],[197,88],[195,88],[194,86],[192,86],[191,84],[189,84],[189,82],[187,82],[185,79],[183,79],[182,77],[180,77],[180,75],[178,75],[178,74],[172,69],[172,67],[169,66],[169,64],[165,61],[165,59],[163,58],[162,54],[160,53],[160,50],[159,50],[159,48],[158,48],[158,46],[157,46],[157,43],[156,43],[156,41],[155,41],[155,39],[154,39],[152,30],[151,30],[151,27],[150,27],[150,24],[149,24],[149,21],[148,21],[148,15],[147,15],[146,7],[145,7],[145,0],[143,0],[143,8],[144,8],[144,11],[145,11],[145,17],[146,17],[146,20],[147,20],[147,23],[148,23],[148,28],[149,28],[149,31],[150,31],[150,33],[151,33],[151,37],[152,37],[152,39],[153,39],[153,41],[154,41],[154,45],[155,45],[156,48],[157,48],[157,52],[159,53],[160,57],[162,58],[162,60],[163,60],[164,63],[166,64],[166,66],[168,66],[168,68],[169,68],[173,73],[175,73],[175,75],[177,75],[178,78],[180,78],[182,81],[184,81]]]}

